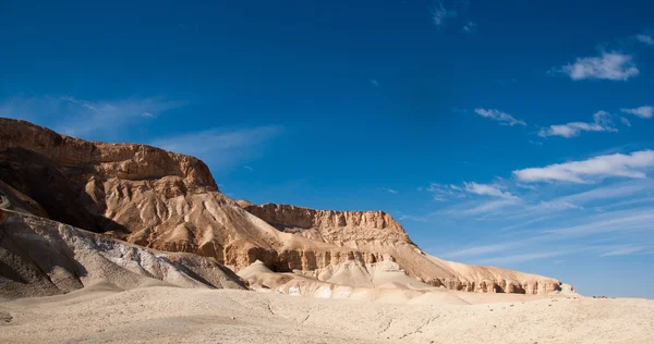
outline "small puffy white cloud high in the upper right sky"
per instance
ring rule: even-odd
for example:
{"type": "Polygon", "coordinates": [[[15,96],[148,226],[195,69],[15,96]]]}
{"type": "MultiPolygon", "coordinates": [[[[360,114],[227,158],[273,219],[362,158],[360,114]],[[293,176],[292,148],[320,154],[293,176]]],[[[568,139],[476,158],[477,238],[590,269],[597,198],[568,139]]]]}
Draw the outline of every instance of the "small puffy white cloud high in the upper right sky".
{"type": "Polygon", "coordinates": [[[560,71],[573,81],[627,81],[640,73],[631,56],[615,51],[603,52],[601,57],[578,58],[574,63],[565,65],[560,71]]]}

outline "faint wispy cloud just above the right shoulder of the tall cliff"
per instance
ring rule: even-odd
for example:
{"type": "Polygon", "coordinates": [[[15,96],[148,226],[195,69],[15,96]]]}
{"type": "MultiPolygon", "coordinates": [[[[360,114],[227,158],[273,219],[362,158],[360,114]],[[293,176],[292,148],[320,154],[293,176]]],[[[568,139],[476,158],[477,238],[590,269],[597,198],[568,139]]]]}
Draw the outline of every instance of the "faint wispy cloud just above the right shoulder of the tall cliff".
{"type": "MultiPolygon", "coordinates": [[[[257,153],[256,147],[282,132],[268,125],[246,128],[211,128],[155,139],[150,144],[167,150],[198,157],[213,168],[225,168],[257,153]]],[[[244,169],[252,169],[244,165],[244,169]]],[[[249,169],[249,170],[250,170],[249,169]]]]}

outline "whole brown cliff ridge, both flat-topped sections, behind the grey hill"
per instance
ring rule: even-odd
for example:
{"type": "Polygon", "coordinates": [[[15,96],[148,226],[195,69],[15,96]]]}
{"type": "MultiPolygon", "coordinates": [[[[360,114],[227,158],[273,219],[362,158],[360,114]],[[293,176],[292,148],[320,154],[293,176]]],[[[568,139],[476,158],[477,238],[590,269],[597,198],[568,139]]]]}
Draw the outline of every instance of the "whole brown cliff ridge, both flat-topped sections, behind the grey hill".
{"type": "Polygon", "coordinates": [[[275,271],[392,260],[420,281],[452,290],[535,294],[560,287],[553,279],[431,257],[383,211],[235,202],[195,158],[85,142],[23,121],[0,119],[0,180],[52,220],[211,257],[237,271],[256,260],[275,271]]]}

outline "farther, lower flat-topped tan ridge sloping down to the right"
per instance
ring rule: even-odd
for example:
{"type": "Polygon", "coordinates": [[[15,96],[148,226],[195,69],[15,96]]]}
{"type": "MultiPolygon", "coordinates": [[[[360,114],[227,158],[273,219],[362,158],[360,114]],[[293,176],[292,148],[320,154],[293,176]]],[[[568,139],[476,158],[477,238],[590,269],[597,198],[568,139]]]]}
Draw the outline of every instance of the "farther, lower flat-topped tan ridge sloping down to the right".
{"type": "MultiPolygon", "coordinates": [[[[254,216],[286,233],[352,250],[391,257],[410,275],[433,286],[488,293],[543,294],[559,291],[554,279],[495,267],[473,267],[422,251],[402,226],[383,211],[315,210],[267,204],[245,206],[254,216]]],[[[367,261],[375,262],[375,261],[367,261]]]]}

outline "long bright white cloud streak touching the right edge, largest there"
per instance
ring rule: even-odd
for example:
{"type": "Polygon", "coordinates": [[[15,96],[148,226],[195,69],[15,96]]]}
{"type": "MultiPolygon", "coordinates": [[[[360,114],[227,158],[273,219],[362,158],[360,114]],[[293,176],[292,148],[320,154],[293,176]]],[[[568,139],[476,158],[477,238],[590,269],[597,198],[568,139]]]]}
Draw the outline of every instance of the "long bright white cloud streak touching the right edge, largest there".
{"type": "Polygon", "coordinates": [[[513,175],[523,182],[584,183],[588,179],[608,176],[644,179],[646,174],[643,170],[651,167],[654,167],[654,150],[641,150],[630,155],[598,156],[583,161],[517,170],[513,171],[513,175]]]}

